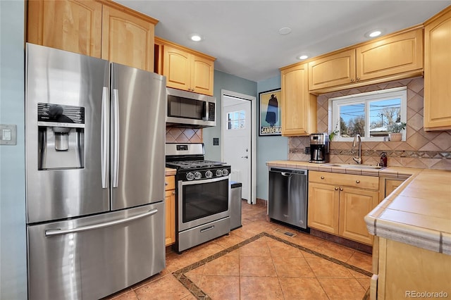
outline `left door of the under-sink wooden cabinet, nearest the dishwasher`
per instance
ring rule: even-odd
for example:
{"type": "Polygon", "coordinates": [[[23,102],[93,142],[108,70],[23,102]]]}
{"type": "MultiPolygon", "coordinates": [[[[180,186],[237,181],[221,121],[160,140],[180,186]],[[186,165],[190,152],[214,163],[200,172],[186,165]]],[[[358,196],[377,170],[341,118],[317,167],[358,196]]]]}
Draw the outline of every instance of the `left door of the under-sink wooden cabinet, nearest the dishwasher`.
{"type": "Polygon", "coordinates": [[[309,227],[338,235],[339,196],[338,187],[309,182],[309,227]]]}

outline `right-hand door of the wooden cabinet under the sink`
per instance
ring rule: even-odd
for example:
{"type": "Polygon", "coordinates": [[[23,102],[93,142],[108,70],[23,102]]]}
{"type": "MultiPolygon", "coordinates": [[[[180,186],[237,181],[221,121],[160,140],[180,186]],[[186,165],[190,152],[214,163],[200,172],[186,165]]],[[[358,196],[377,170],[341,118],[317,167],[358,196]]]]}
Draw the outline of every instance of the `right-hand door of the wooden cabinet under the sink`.
{"type": "Polygon", "coordinates": [[[378,198],[379,192],[342,187],[339,235],[371,245],[373,236],[366,230],[364,217],[378,205],[378,198]]]}

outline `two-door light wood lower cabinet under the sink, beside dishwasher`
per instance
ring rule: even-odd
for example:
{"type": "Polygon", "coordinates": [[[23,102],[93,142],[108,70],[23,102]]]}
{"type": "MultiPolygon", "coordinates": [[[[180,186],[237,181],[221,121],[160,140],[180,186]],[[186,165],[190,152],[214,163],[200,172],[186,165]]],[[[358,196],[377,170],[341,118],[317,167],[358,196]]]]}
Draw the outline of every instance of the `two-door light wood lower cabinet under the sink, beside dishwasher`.
{"type": "Polygon", "coordinates": [[[371,176],[310,171],[309,227],[373,244],[364,216],[379,203],[378,180],[371,176]]]}

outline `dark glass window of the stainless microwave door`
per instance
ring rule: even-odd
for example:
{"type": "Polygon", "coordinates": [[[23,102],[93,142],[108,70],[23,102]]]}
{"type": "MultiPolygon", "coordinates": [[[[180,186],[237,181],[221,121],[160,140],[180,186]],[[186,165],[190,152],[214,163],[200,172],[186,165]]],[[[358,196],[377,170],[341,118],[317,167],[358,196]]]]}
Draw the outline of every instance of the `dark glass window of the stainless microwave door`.
{"type": "Polygon", "coordinates": [[[206,102],[168,95],[168,117],[204,120],[206,102]]]}

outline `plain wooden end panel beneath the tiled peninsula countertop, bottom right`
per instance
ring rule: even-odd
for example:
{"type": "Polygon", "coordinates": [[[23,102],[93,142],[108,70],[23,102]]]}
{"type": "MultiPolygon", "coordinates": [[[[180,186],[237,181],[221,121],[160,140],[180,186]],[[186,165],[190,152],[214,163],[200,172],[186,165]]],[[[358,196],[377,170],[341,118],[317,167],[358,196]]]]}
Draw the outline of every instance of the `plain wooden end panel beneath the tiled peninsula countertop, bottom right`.
{"type": "MultiPolygon", "coordinates": [[[[375,244],[376,246],[376,244],[375,244]]],[[[451,296],[451,256],[378,237],[377,274],[370,299],[438,299],[451,296]]],[[[374,260],[373,260],[374,261],[374,260]]],[[[374,272],[375,268],[373,268],[374,272]]]]}

